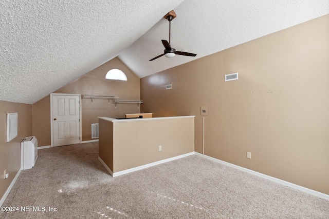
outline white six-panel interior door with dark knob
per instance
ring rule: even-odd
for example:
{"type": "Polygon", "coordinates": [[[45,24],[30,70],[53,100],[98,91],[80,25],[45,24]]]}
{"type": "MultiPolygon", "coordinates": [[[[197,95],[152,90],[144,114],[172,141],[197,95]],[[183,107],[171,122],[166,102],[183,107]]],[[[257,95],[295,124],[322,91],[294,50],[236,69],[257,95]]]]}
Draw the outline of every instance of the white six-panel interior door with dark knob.
{"type": "Polygon", "coordinates": [[[79,104],[79,95],[52,95],[53,146],[80,143],[79,104]]]}

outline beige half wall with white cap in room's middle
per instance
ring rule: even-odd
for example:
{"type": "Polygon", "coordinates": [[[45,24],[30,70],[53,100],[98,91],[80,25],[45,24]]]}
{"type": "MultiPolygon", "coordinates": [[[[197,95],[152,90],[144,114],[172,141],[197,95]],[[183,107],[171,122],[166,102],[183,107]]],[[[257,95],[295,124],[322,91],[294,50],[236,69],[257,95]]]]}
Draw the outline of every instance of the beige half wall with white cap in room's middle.
{"type": "Polygon", "coordinates": [[[193,116],[99,120],[99,156],[113,173],[194,151],[193,116]]]}

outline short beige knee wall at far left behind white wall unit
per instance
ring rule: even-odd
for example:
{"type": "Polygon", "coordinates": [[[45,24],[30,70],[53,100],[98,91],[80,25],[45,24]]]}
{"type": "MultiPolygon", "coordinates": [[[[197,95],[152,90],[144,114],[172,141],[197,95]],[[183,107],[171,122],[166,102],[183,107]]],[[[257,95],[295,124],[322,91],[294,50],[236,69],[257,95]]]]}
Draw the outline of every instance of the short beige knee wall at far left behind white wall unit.
{"type": "Polygon", "coordinates": [[[21,142],[32,135],[32,105],[0,101],[0,198],[21,168],[21,142]],[[18,135],[7,142],[7,113],[18,112],[18,135]],[[4,179],[4,170],[9,178],[4,179]]]}

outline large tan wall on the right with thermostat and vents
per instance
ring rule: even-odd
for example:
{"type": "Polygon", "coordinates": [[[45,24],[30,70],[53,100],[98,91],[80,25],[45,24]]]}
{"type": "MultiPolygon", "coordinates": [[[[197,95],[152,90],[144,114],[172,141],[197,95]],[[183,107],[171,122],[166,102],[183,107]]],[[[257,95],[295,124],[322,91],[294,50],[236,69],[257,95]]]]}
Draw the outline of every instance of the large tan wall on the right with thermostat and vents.
{"type": "Polygon", "coordinates": [[[208,106],[206,155],[329,194],[328,60],[325,15],[141,78],[141,112],[196,115],[202,153],[208,106]]]}

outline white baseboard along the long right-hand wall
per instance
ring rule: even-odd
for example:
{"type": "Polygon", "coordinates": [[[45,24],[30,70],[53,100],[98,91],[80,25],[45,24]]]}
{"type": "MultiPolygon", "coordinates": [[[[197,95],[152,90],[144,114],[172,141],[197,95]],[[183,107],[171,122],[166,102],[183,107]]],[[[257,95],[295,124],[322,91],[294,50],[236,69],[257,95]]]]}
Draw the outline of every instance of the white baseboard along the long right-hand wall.
{"type": "Polygon", "coordinates": [[[242,170],[244,172],[247,172],[247,173],[250,173],[250,174],[253,174],[253,175],[257,175],[259,177],[265,178],[266,180],[270,180],[272,182],[276,182],[276,183],[279,183],[281,185],[288,186],[290,188],[294,188],[294,189],[297,189],[299,191],[306,192],[308,194],[311,194],[311,195],[315,195],[317,197],[324,198],[325,200],[329,200],[329,195],[327,195],[327,194],[324,194],[324,193],[321,193],[321,192],[318,192],[318,191],[315,191],[315,190],[312,190],[312,189],[308,189],[306,187],[299,186],[299,185],[296,185],[296,184],[293,184],[293,183],[289,183],[287,181],[280,180],[279,178],[272,177],[272,176],[269,176],[269,175],[265,175],[263,173],[259,173],[259,172],[253,171],[253,170],[249,170],[247,168],[240,167],[240,166],[237,166],[237,165],[234,165],[234,164],[225,162],[225,161],[221,161],[221,160],[218,160],[218,159],[216,159],[214,157],[207,156],[207,155],[204,155],[204,154],[201,154],[201,153],[198,153],[198,152],[195,152],[195,155],[199,155],[199,156],[205,157],[205,158],[207,158],[207,159],[209,159],[211,161],[214,161],[214,162],[217,162],[217,163],[220,163],[220,164],[229,166],[229,167],[233,167],[235,169],[239,169],[239,170],[242,170]]]}

